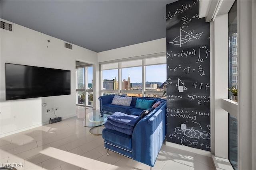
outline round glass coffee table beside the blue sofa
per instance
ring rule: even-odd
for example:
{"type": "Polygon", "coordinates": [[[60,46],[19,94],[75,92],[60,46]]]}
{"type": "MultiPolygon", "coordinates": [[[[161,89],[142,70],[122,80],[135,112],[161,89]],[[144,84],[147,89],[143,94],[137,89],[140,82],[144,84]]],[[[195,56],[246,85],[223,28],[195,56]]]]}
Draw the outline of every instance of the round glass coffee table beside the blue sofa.
{"type": "Polygon", "coordinates": [[[104,129],[104,123],[107,121],[107,117],[110,114],[104,113],[103,117],[100,117],[100,111],[94,110],[93,112],[87,113],[83,125],[85,127],[92,127],[89,131],[91,135],[101,135],[102,129],[104,129]]]}

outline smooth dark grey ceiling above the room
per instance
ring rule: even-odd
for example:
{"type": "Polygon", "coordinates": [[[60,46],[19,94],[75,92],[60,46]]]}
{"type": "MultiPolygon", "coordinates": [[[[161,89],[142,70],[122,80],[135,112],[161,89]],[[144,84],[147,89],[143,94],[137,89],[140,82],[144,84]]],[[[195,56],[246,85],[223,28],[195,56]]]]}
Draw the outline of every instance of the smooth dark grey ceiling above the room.
{"type": "Polygon", "coordinates": [[[166,37],[176,0],[1,0],[1,19],[95,52],[166,37]]]}

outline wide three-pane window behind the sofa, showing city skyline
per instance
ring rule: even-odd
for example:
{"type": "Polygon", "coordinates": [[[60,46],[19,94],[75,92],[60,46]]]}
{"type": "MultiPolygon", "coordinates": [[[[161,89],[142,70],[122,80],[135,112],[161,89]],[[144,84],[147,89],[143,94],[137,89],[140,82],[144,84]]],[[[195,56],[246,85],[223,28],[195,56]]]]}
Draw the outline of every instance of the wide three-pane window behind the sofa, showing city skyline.
{"type": "Polygon", "coordinates": [[[166,56],[100,64],[100,68],[102,95],[166,98],[166,56]]]}

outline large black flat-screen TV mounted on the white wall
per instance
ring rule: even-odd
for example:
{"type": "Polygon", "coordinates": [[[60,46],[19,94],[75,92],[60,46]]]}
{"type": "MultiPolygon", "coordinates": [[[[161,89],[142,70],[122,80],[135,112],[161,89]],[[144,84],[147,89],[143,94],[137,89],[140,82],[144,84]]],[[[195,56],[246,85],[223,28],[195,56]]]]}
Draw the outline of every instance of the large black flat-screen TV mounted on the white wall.
{"type": "Polygon", "coordinates": [[[6,100],[70,94],[70,70],[5,63],[6,100]]]}

